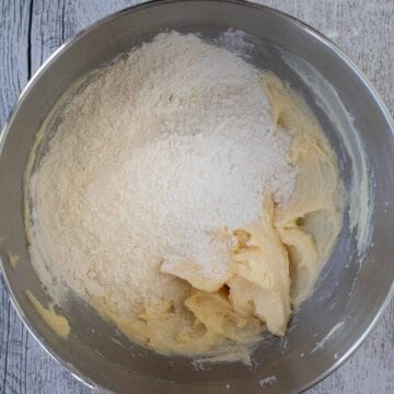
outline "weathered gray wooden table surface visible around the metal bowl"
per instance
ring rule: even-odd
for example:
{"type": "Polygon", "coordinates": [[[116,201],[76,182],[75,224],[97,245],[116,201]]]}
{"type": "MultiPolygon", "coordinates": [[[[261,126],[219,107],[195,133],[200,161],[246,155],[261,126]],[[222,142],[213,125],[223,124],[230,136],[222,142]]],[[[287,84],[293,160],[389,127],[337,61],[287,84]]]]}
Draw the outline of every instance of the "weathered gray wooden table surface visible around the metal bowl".
{"type": "MultiPolygon", "coordinates": [[[[1,0],[0,125],[39,65],[65,40],[132,0],[1,0]]],[[[394,112],[394,0],[266,0],[317,28],[361,68],[394,112]]],[[[1,187],[1,186],[0,186],[1,187]]],[[[394,393],[394,302],[343,367],[311,394],[394,393]]],[[[0,278],[0,394],[91,393],[15,314],[0,278]]]]}

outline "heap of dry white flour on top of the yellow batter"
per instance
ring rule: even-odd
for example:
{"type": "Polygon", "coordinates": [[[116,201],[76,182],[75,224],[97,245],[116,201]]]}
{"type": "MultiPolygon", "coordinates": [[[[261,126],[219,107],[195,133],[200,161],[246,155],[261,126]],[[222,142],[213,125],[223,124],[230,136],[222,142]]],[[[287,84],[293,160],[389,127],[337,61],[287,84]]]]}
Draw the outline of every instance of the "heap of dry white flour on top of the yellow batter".
{"type": "Polygon", "coordinates": [[[258,70],[195,35],[160,34],[65,109],[32,179],[37,250],[80,294],[120,310],[175,298],[186,285],[162,264],[221,275],[217,232],[258,220],[263,192],[291,195],[290,143],[258,70]]]}

